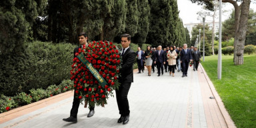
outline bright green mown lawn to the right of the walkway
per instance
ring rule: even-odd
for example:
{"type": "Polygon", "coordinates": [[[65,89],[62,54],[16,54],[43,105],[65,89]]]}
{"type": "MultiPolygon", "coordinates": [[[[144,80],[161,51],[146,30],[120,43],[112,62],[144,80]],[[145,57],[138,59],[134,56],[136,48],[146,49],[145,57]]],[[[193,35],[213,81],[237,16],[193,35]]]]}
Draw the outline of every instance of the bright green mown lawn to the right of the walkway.
{"type": "Polygon", "coordinates": [[[217,79],[218,56],[202,63],[237,127],[256,127],[256,55],[245,55],[234,65],[233,55],[222,56],[222,78],[217,79]]]}

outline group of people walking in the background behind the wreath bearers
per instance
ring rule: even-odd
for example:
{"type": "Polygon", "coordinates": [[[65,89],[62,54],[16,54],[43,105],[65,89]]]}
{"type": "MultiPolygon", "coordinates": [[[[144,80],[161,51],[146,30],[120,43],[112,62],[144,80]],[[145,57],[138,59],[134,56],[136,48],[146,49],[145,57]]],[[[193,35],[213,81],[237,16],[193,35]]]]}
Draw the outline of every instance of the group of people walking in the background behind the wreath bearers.
{"type": "Polygon", "coordinates": [[[145,51],[138,47],[137,65],[139,72],[144,71],[144,63],[148,70],[148,75],[151,76],[151,71],[155,72],[155,66],[157,66],[157,76],[163,75],[163,71],[169,72],[169,75],[175,76],[175,69],[178,68],[178,72],[182,71],[182,77],[187,77],[187,70],[189,63],[193,64],[193,71],[196,71],[201,61],[201,53],[197,50],[197,47],[191,46],[187,48],[187,44],[183,47],[165,47],[159,45],[157,49],[147,46],[145,51]]]}

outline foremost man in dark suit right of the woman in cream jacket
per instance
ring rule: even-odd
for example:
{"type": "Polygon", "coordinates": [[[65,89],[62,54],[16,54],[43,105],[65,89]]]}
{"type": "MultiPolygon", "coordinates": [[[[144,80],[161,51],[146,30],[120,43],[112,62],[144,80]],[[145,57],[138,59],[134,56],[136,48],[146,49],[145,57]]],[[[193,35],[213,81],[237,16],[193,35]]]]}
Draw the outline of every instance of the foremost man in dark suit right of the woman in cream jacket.
{"type": "Polygon", "coordinates": [[[183,69],[183,75],[182,77],[187,77],[187,69],[189,69],[189,62],[192,61],[192,55],[191,50],[187,49],[187,44],[185,43],[183,45],[183,49],[181,51],[181,63],[182,63],[182,69],[183,69]]]}

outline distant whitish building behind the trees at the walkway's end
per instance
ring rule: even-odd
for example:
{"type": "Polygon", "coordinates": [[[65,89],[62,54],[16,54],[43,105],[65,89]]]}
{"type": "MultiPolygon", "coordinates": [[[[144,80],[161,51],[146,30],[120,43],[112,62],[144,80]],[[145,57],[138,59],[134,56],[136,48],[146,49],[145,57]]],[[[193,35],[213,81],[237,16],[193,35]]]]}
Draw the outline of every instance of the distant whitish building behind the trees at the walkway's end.
{"type": "MultiPolygon", "coordinates": [[[[213,28],[213,23],[212,22],[207,22],[205,23],[205,25],[208,24],[209,29],[213,28]]],[[[190,37],[192,37],[192,28],[195,25],[203,25],[203,23],[186,23],[185,27],[187,27],[187,30],[189,30],[189,35],[190,37]]],[[[219,22],[215,22],[215,29],[214,29],[214,33],[217,33],[217,31],[219,31],[219,22]]],[[[203,30],[201,30],[201,34],[203,34],[203,30]]]]}

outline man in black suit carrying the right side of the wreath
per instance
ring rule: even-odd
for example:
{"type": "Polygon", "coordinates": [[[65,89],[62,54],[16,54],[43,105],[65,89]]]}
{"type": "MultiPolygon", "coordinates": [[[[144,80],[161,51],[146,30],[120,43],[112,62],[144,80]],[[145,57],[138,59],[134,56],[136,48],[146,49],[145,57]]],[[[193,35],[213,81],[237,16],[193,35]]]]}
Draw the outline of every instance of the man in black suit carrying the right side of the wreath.
{"type": "Polygon", "coordinates": [[[136,58],[136,53],[129,47],[131,43],[131,35],[121,35],[121,45],[123,47],[121,51],[122,63],[121,63],[121,77],[119,77],[119,83],[121,83],[119,89],[115,90],[117,96],[117,105],[119,114],[121,117],[117,123],[123,123],[125,125],[129,121],[130,110],[129,101],[127,95],[133,82],[133,62],[136,58]]]}

